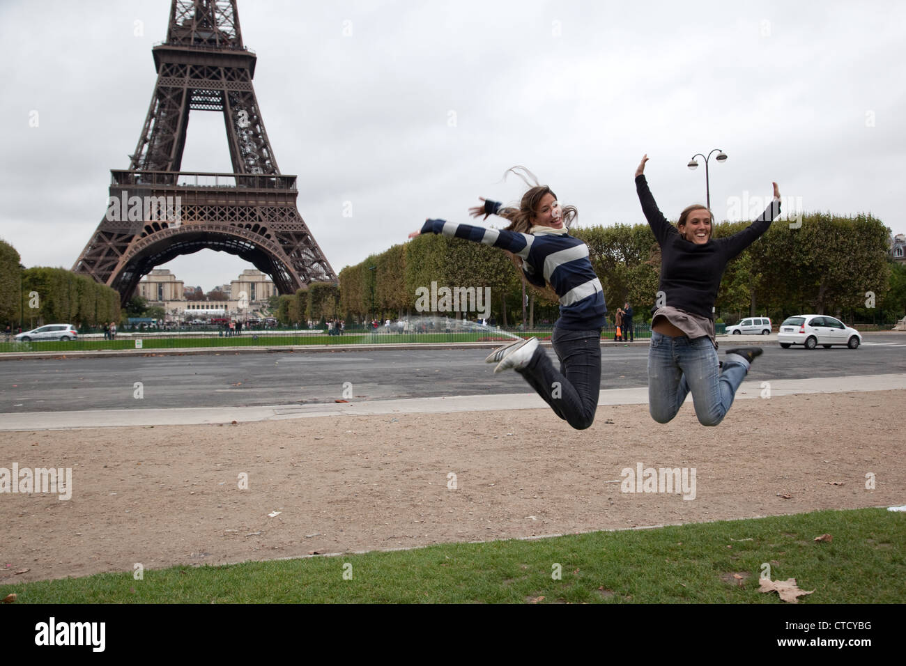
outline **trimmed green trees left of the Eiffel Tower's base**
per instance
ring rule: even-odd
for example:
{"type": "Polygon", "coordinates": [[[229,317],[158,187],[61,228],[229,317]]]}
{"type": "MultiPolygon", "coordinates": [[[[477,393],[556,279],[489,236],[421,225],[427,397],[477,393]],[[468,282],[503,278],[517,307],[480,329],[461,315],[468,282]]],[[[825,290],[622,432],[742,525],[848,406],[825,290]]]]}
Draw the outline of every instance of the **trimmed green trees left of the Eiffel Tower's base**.
{"type": "Polygon", "coordinates": [[[15,248],[0,241],[0,324],[96,326],[120,321],[120,294],[65,268],[20,266],[15,248]]]}

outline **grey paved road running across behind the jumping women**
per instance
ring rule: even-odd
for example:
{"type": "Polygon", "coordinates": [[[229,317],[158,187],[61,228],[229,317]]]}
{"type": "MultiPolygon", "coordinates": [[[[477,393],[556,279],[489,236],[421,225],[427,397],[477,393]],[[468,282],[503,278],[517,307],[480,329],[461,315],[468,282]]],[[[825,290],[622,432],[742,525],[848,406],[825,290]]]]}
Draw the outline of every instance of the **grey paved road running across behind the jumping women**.
{"type": "MultiPolygon", "coordinates": [[[[731,343],[721,344],[721,353],[731,343]]],[[[530,391],[495,375],[487,350],[232,354],[0,363],[0,413],[240,407],[530,391]],[[136,387],[140,382],[140,387],[136,387]],[[137,395],[141,398],[137,398],[137,395]]],[[[553,351],[548,350],[553,357],[553,351]]],[[[602,349],[602,389],[647,385],[647,346],[602,349]]],[[[866,336],[858,350],[765,347],[750,381],[906,372],[906,335],[866,336]]]]}

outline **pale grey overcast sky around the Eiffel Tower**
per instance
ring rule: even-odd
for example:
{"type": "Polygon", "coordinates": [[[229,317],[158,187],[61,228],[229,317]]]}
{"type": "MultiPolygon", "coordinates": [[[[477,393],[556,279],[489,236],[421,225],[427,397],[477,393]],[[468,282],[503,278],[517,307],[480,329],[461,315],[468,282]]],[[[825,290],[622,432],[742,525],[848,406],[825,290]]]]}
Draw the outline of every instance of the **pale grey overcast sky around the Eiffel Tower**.
{"type": "MultiPolygon", "coordinates": [[[[71,268],[101,221],[169,5],[0,0],[0,238],[24,265],[71,268]]],[[[776,180],[805,211],[871,212],[906,232],[901,2],[239,0],[238,14],[277,164],[298,176],[299,212],[337,273],[426,217],[516,200],[522,183],[502,181],[514,165],[582,226],[643,223],[645,152],[673,219],[705,200],[689,159],[718,148],[718,219],[776,180]]],[[[232,170],[219,112],[192,111],[182,169],[232,170]]],[[[206,250],[163,267],[208,290],[252,266],[206,250]]]]}

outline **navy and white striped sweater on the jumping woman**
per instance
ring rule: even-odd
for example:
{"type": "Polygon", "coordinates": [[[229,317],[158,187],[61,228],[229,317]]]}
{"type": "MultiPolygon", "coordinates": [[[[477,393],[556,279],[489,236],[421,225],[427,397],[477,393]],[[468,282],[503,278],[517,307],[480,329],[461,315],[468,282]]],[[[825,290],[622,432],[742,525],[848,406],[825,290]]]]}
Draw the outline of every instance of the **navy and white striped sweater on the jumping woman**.
{"type": "MultiPolygon", "coordinates": [[[[494,203],[496,212],[500,208],[494,203]]],[[[458,225],[442,219],[429,219],[421,233],[443,234],[475,243],[500,247],[522,258],[525,279],[544,287],[554,287],[560,299],[560,318],[554,324],[570,331],[602,328],[607,306],[601,280],[595,275],[583,241],[562,233],[519,234],[504,229],[458,225]],[[540,269],[540,270],[539,270],[540,269]]]]}

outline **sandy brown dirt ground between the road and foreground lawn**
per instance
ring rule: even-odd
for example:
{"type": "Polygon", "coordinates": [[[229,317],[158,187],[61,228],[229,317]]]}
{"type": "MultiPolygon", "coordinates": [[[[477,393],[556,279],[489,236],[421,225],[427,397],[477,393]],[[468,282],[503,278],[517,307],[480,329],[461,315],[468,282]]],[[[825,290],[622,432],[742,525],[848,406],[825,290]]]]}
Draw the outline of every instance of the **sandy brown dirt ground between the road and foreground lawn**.
{"type": "Polygon", "coordinates": [[[717,428],[687,404],[667,425],[601,407],[582,431],[512,410],[7,433],[0,468],[72,468],[72,498],[0,494],[0,583],[900,506],[904,404],[737,401],[717,428]],[[694,499],[622,492],[639,463],[695,468],[694,499]]]}

